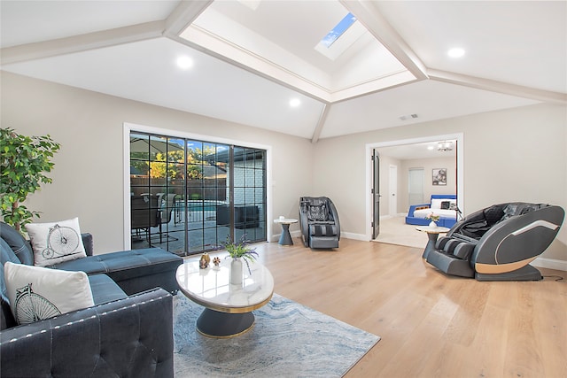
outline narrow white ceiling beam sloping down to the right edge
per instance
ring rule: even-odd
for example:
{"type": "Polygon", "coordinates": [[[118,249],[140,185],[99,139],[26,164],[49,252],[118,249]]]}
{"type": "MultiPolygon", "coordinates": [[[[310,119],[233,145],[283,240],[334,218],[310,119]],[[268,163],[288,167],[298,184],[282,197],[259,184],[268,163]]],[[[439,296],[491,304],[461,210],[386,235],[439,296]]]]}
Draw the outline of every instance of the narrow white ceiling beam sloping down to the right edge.
{"type": "Polygon", "coordinates": [[[511,96],[531,98],[532,100],[542,101],[552,104],[567,104],[567,94],[552,92],[543,89],[533,89],[516,84],[509,84],[502,81],[493,81],[474,76],[463,75],[460,73],[449,73],[428,69],[429,78],[433,81],[443,81],[450,84],[462,85],[465,87],[490,90],[492,92],[503,93],[511,96]]]}

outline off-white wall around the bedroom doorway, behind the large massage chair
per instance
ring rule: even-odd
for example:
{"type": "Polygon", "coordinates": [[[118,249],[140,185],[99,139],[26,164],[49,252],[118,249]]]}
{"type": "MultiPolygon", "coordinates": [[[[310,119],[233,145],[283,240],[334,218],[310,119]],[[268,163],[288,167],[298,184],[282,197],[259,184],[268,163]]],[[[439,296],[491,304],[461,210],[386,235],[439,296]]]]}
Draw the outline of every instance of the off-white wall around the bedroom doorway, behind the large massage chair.
{"type": "MultiPolygon", "coordinates": [[[[346,233],[369,240],[365,146],[462,133],[465,214],[509,201],[567,209],[566,130],[567,106],[538,104],[322,139],[315,145],[315,191],[337,204],[346,233]]],[[[566,229],[544,257],[567,260],[566,229]]]]}

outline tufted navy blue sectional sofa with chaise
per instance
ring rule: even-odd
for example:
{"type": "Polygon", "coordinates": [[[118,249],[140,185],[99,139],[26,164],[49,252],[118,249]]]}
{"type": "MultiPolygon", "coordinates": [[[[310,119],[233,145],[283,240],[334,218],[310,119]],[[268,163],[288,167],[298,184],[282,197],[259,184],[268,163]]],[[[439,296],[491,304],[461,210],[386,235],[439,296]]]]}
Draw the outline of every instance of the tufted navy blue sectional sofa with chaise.
{"type": "Polygon", "coordinates": [[[93,256],[55,269],[84,271],[95,305],[18,326],[4,282],[4,263],[33,265],[29,243],[0,222],[0,376],[171,377],[175,270],[183,259],[159,248],[93,256]]]}

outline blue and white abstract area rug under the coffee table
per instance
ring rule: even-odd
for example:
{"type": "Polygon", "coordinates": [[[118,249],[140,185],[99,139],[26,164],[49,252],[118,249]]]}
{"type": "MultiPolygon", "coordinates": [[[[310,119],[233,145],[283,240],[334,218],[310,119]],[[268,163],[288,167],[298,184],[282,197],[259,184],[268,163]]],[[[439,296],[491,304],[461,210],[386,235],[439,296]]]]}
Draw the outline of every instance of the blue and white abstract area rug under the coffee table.
{"type": "Polygon", "coordinates": [[[175,377],[340,377],[379,340],[274,294],[242,336],[215,339],[195,329],[203,307],[174,298],[175,377]]]}

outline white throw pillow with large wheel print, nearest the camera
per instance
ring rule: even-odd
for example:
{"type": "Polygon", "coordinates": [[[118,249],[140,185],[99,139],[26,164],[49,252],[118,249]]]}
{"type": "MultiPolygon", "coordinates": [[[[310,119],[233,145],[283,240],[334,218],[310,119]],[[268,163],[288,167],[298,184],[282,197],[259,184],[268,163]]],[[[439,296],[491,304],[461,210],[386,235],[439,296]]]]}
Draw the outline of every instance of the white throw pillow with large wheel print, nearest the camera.
{"type": "Polygon", "coordinates": [[[95,305],[89,277],[40,266],[4,263],[10,308],[18,324],[33,323],[95,305]]]}

